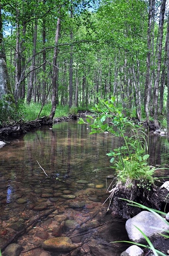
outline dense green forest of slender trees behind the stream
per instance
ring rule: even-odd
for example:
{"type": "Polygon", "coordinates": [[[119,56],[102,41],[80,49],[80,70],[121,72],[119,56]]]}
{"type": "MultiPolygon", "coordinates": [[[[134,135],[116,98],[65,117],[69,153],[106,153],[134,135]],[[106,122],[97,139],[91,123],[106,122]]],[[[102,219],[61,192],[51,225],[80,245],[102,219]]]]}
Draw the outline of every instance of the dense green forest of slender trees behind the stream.
{"type": "Polygon", "coordinates": [[[169,122],[167,0],[0,0],[0,35],[1,122],[4,108],[50,103],[52,120],[111,96],[169,122]]]}

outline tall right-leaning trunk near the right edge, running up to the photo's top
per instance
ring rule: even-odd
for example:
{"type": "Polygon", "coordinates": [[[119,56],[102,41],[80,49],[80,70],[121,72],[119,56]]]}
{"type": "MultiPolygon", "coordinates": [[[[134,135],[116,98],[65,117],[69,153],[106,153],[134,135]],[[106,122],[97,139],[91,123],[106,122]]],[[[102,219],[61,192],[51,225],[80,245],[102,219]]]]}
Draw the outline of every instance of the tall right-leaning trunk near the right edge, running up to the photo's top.
{"type": "Polygon", "coordinates": [[[158,96],[159,96],[159,84],[160,84],[160,72],[161,72],[161,56],[162,56],[162,45],[163,45],[163,28],[164,28],[164,17],[166,9],[166,0],[163,0],[161,6],[161,19],[160,19],[160,37],[158,47],[158,64],[157,64],[157,76],[155,81],[155,99],[154,99],[154,126],[158,129],[158,96]]]}

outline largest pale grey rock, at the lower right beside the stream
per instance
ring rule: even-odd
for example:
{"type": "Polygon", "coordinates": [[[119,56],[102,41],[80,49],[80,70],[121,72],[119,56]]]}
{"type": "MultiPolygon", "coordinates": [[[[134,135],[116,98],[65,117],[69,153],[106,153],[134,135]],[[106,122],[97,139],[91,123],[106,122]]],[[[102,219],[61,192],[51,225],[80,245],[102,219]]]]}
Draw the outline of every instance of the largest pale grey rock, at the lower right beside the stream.
{"type": "Polygon", "coordinates": [[[156,238],[165,230],[169,230],[169,224],[154,213],[143,211],[126,221],[125,228],[131,241],[141,243],[145,240],[138,228],[149,238],[156,238]]]}

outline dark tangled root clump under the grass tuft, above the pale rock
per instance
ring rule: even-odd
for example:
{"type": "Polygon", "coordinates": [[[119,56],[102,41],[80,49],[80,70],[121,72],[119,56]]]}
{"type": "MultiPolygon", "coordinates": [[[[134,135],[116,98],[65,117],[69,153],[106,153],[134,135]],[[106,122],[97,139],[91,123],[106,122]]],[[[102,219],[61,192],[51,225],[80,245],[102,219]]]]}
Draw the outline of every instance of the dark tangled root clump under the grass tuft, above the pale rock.
{"type": "Polygon", "coordinates": [[[123,185],[119,182],[116,187],[110,191],[110,195],[106,199],[106,201],[109,199],[109,207],[107,210],[110,210],[113,216],[119,215],[121,218],[127,220],[141,212],[139,207],[128,205],[126,200],[140,203],[152,209],[161,209],[162,202],[164,202],[164,191],[154,184],[147,189],[138,186],[137,183],[137,181],[133,181],[132,184],[130,182],[130,185],[128,183],[123,185]],[[121,198],[126,200],[122,200],[121,198]]]}

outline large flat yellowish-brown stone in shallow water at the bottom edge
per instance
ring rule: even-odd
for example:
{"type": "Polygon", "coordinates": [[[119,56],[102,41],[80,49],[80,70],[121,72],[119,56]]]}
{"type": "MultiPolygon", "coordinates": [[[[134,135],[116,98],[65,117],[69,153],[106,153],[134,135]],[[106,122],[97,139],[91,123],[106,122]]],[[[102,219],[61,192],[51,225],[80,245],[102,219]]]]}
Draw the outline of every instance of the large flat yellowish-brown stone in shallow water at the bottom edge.
{"type": "Polygon", "coordinates": [[[69,237],[55,237],[44,241],[42,248],[48,251],[71,252],[76,246],[69,237]]]}

